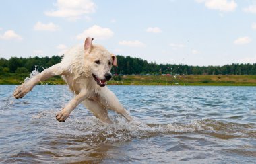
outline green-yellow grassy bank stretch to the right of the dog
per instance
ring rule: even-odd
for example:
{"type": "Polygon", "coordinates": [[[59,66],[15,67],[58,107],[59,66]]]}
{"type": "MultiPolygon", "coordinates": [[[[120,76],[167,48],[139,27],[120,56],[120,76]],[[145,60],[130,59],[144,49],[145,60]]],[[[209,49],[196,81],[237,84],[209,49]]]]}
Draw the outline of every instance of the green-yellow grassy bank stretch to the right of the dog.
{"type": "Polygon", "coordinates": [[[256,75],[124,76],[112,85],[216,85],[256,86],[256,75]]]}

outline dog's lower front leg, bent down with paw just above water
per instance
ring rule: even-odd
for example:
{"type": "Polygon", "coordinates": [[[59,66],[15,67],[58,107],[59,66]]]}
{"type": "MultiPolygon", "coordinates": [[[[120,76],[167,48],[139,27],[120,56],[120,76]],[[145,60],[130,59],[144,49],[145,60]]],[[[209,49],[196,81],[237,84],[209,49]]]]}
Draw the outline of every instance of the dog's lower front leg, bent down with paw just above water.
{"type": "Polygon", "coordinates": [[[59,122],[65,122],[65,120],[69,117],[69,114],[75,109],[75,107],[88,98],[88,93],[86,91],[81,91],[78,95],[76,95],[65,108],[61,110],[58,114],[55,115],[56,119],[59,122]]]}

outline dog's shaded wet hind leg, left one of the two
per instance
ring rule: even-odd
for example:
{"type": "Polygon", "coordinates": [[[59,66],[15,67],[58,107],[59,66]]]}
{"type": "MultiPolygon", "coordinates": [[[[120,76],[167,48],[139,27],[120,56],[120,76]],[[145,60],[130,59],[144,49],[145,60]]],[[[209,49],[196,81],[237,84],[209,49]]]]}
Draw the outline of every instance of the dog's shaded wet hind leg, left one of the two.
{"type": "Polygon", "coordinates": [[[113,124],[113,121],[108,117],[108,110],[100,104],[98,101],[92,99],[86,99],[82,102],[96,118],[100,119],[102,122],[107,124],[113,124]]]}

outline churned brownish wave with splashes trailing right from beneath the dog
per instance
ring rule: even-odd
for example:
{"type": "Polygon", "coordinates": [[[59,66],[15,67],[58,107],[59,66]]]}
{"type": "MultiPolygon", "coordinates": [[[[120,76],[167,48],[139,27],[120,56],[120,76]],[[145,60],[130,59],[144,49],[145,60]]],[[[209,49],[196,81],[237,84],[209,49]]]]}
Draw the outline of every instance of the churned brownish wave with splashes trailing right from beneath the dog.
{"type": "Polygon", "coordinates": [[[147,124],[138,121],[127,122],[121,116],[110,116],[115,124],[103,124],[94,116],[72,117],[66,122],[57,122],[54,111],[44,111],[32,117],[41,130],[55,133],[61,138],[73,138],[77,142],[119,142],[135,138],[150,138],[158,135],[205,134],[215,138],[256,138],[255,124],[238,124],[220,120],[202,119],[189,123],[147,124]]]}

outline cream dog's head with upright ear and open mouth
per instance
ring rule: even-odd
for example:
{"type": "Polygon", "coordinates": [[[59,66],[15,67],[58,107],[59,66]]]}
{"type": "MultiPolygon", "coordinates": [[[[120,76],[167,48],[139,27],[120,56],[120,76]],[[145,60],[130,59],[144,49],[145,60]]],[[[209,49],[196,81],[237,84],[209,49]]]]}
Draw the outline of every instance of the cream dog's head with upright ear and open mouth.
{"type": "Polygon", "coordinates": [[[117,66],[117,58],[104,47],[100,45],[92,45],[93,38],[86,38],[84,42],[84,55],[86,67],[90,69],[92,77],[100,87],[106,85],[112,77],[111,68],[117,66]]]}

